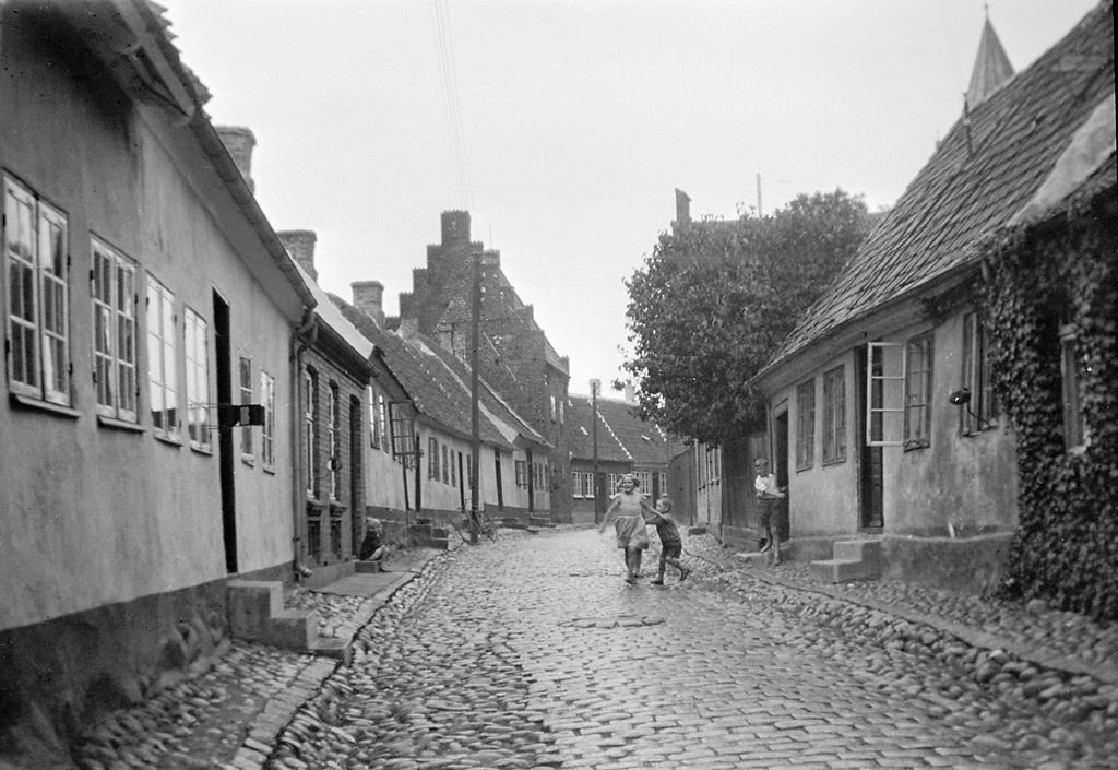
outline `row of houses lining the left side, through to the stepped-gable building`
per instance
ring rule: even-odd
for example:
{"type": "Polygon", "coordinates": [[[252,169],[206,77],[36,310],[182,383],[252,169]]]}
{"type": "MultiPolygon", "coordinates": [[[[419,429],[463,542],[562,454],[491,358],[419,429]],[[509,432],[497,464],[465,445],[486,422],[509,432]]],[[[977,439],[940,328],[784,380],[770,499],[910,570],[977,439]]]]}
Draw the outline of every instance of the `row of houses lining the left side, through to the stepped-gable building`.
{"type": "Polygon", "coordinates": [[[330,294],[208,97],[155,3],[0,2],[0,754],[220,654],[230,586],[351,572],[367,516],[570,520],[569,361],[470,214],[398,317],[330,294]]]}

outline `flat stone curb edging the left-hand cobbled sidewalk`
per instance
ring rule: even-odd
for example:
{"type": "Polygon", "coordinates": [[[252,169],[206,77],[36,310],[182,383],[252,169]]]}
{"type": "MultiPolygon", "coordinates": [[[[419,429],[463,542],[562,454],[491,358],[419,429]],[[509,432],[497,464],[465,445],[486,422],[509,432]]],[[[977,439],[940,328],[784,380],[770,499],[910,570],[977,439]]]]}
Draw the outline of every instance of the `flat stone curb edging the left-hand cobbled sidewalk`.
{"type": "MultiPolygon", "coordinates": [[[[340,638],[352,644],[360,631],[404,585],[423,574],[428,565],[443,554],[432,554],[418,569],[401,572],[391,583],[366,599],[353,613],[353,618],[342,623],[338,633],[340,638]]],[[[264,710],[256,715],[247,727],[247,736],[240,748],[228,762],[217,766],[220,770],[263,770],[275,746],[280,733],[295,716],[295,712],[318,693],[323,683],[342,666],[335,658],[313,657],[295,676],[295,680],[283,693],[269,697],[264,710]]]]}

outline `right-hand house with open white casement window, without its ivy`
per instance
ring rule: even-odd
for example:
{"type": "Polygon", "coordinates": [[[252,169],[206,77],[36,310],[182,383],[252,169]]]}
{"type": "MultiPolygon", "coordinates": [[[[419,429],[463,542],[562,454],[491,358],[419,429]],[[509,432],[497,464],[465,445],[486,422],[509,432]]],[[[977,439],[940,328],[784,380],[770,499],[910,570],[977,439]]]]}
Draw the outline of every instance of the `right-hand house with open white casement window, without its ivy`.
{"type": "Polygon", "coordinates": [[[1103,3],[1012,75],[987,24],[964,115],[756,378],[797,557],[873,535],[908,578],[998,579],[1017,448],[992,387],[975,247],[1112,98],[1111,26],[1103,3]]]}

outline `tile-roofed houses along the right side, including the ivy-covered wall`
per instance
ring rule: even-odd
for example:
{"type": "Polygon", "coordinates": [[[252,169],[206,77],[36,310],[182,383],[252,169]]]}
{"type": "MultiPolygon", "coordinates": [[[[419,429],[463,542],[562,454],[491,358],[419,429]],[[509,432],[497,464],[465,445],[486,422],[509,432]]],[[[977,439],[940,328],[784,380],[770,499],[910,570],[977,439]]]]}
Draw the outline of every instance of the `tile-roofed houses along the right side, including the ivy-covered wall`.
{"type": "MultiPolygon", "coordinates": [[[[1112,29],[1103,0],[1014,73],[987,19],[964,113],[755,377],[767,424],[695,449],[698,508],[723,539],[756,543],[765,457],[788,488],[797,558],[833,567],[835,542],[870,538],[894,576],[980,590],[1043,572],[1060,604],[1098,611],[1115,533],[1086,479],[1112,489],[1118,457],[1101,320],[1115,312],[1112,29]],[[1011,299],[1049,303],[1006,316],[1017,279],[995,265],[1025,262],[1052,272],[1011,299]],[[1081,491],[1093,501],[1042,534],[1038,510],[1081,491]],[[1079,534],[1053,537],[1067,527],[1079,534]],[[1057,588],[1061,572],[1095,582],[1057,588]]],[[[673,226],[708,226],[682,206],[673,226]]]]}

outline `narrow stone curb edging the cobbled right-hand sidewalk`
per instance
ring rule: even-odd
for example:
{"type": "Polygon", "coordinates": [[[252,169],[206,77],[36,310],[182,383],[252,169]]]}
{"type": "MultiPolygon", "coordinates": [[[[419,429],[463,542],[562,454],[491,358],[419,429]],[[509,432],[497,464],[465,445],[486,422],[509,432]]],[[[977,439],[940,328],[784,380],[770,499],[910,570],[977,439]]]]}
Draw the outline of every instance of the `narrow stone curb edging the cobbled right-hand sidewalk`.
{"type": "MultiPolygon", "coordinates": [[[[711,560],[713,561],[713,560],[711,560]]],[[[718,562],[714,562],[718,563],[718,562]]],[[[946,618],[940,618],[938,616],[923,614],[920,612],[915,612],[907,607],[900,604],[892,604],[889,602],[878,601],[877,599],[870,599],[864,597],[853,597],[839,589],[833,589],[827,585],[813,585],[809,583],[804,583],[798,580],[790,580],[788,578],[781,578],[779,575],[768,574],[760,570],[749,567],[749,566],[728,566],[726,563],[722,564],[723,570],[742,572],[751,578],[757,578],[768,583],[775,583],[783,585],[785,588],[794,589],[797,591],[806,591],[811,593],[819,593],[831,599],[837,599],[840,601],[849,602],[851,604],[856,604],[870,610],[878,610],[879,612],[885,612],[888,614],[893,614],[912,623],[922,623],[925,626],[930,626],[944,633],[949,633],[970,647],[976,647],[986,650],[1005,650],[1022,660],[1027,660],[1036,666],[1043,668],[1049,668],[1053,670],[1063,672],[1069,675],[1087,675],[1093,677],[1106,684],[1115,685],[1118,684],[1118,666],[1115,665],[1096,665],[1089,666],[1084,663],[1069,658],[1062,655],[1048,655],[1041,650],[1038,650],[1029,645],[1022,645],[1020,642],[999,637],[996,633],[989,633],[987,631],[982,631],[970,626],[964,626],[961,623],[956,623],[955,621],[947,620],[946,618]]]]}

